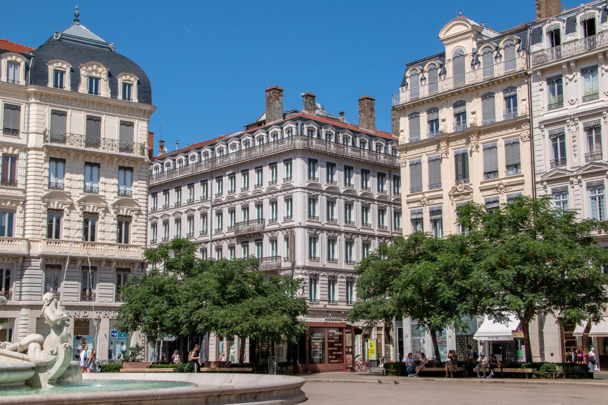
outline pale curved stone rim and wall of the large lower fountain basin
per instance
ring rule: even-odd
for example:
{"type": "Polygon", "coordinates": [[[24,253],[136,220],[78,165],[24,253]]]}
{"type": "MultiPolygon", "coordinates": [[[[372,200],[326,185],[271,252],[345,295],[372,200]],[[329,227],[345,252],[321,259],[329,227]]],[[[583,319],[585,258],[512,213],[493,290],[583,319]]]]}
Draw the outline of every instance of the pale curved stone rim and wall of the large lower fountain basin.
{"type": "MultiPolygon", "coordinates": [[[[182,405],[192,403],[204,404],[261,404],[291,405],[305,400],[302,386],[303,378],[266,374],[229,374],[229,373],[129,373],[128,378],[121,378],[118,373],[84,374],[83,382],[94,383],[104,380],[128,379],[145,383],[153,381],[180,381],[196,384],[165,389],[122,390],[95,392],[95,404],[167,404],[182,405]]],[[[159,383],[160,384],[160,383],[159,383]]],[[[133,387],[130,387],[133,388],[133,387]]],[[[81,404],[83,392],[49,393],[35,395],[0,396],[0,404],[81,404]]]]}

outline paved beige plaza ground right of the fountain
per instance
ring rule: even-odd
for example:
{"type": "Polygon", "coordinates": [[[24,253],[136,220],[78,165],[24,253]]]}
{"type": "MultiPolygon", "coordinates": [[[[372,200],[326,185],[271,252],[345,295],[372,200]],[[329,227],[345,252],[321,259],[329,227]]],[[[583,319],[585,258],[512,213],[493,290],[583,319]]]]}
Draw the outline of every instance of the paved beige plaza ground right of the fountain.
{"type": "Polygon", "coordinates": [[[306,404],[594,405],[608,403],[608,379],[391,378],[356,373],[306,375],[306,404]],[[382,383],[378,383],[378,380],[382,383]],[[393,381],[398,381],[395,384],[393,381]]]}

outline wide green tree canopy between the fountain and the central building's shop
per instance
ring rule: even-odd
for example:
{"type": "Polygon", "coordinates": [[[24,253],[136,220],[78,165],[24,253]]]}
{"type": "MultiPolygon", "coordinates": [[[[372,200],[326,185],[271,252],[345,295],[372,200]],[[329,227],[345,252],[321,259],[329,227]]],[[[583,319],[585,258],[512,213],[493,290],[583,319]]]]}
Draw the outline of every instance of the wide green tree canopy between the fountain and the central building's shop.
{"type": "Polygon", "coordinates": [[[266,277],[252,257],[196,258],[196,249],[181,238],[148,249],[145,258],[155,267],[123,286],[117,327],[149,336],[215,332],[277,343],[305,336],[299,280],[266,277]]]}

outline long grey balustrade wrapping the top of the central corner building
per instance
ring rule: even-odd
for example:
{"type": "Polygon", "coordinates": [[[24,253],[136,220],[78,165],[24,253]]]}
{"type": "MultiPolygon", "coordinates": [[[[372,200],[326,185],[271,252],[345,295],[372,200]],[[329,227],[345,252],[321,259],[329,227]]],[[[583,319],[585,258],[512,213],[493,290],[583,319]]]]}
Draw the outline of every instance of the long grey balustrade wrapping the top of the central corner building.
{"type": "MultiPolygon", "coordinates": [[[[274,142],[268,142],[263,145],[257,145],[255,147],[250,147],[237,152],[224,154],[222,156],[216,156],[205,161],[161,171],[160,173],[154,173],[150,177],[150,183],[155,184],[157,182],[167,181],[181,176],[195,175],[197,173],[202,173],[203,171],[238,164],[239,162],[248,159],[290,149],[319,151],[323,153],[352,157],[354,159],[361,159],[367,162],[375,162],[395,167],[399,166],[399,158],[397,156],[393,156],[392,154],[352,147],[349,145],[339,144],[337,142],[331,142],[329,140],[297,135],[276,140],[274,142]]],[[[241,189],[241,191],[245,190],[241,189]]]]}

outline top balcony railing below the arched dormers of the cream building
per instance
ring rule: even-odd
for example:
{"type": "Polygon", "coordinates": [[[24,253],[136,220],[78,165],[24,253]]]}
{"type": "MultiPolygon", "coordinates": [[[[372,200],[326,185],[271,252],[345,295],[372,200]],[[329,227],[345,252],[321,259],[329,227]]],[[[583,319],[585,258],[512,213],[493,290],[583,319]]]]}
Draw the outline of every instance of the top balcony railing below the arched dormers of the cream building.
{"type": "Polygon", "coordinates": [[[479,85],[491,80],[496,80],[517,72],[523,72],[527,69],[527,58],[518,56],[515,59],[503,60],[495,63],[492,68],[477,67],[472,71],[466,72],[464,75],[450,76],[429,83],[427,79],[418,88],[409,86],[407,89],[393,94],[393,107],[403,105],[416,100],[426,99],[426,97],[436,97],[441,93],[447,93],[454,90],[460,90],[473,85],[479,85]]]}

